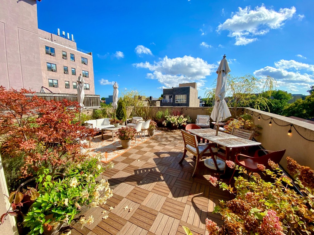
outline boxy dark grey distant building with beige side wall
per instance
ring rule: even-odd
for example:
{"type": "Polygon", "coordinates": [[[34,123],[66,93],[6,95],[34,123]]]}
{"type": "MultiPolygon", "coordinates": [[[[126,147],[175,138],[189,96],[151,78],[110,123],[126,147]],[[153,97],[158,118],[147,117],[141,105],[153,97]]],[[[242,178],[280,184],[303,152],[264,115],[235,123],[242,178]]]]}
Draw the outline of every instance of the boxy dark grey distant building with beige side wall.
{"type": "Polygon", "coordinates": [[[163,94],[164,98],[160,106],[199,107],[196,82],[181,83],[179,87],[165,88],[163,94]]]}

